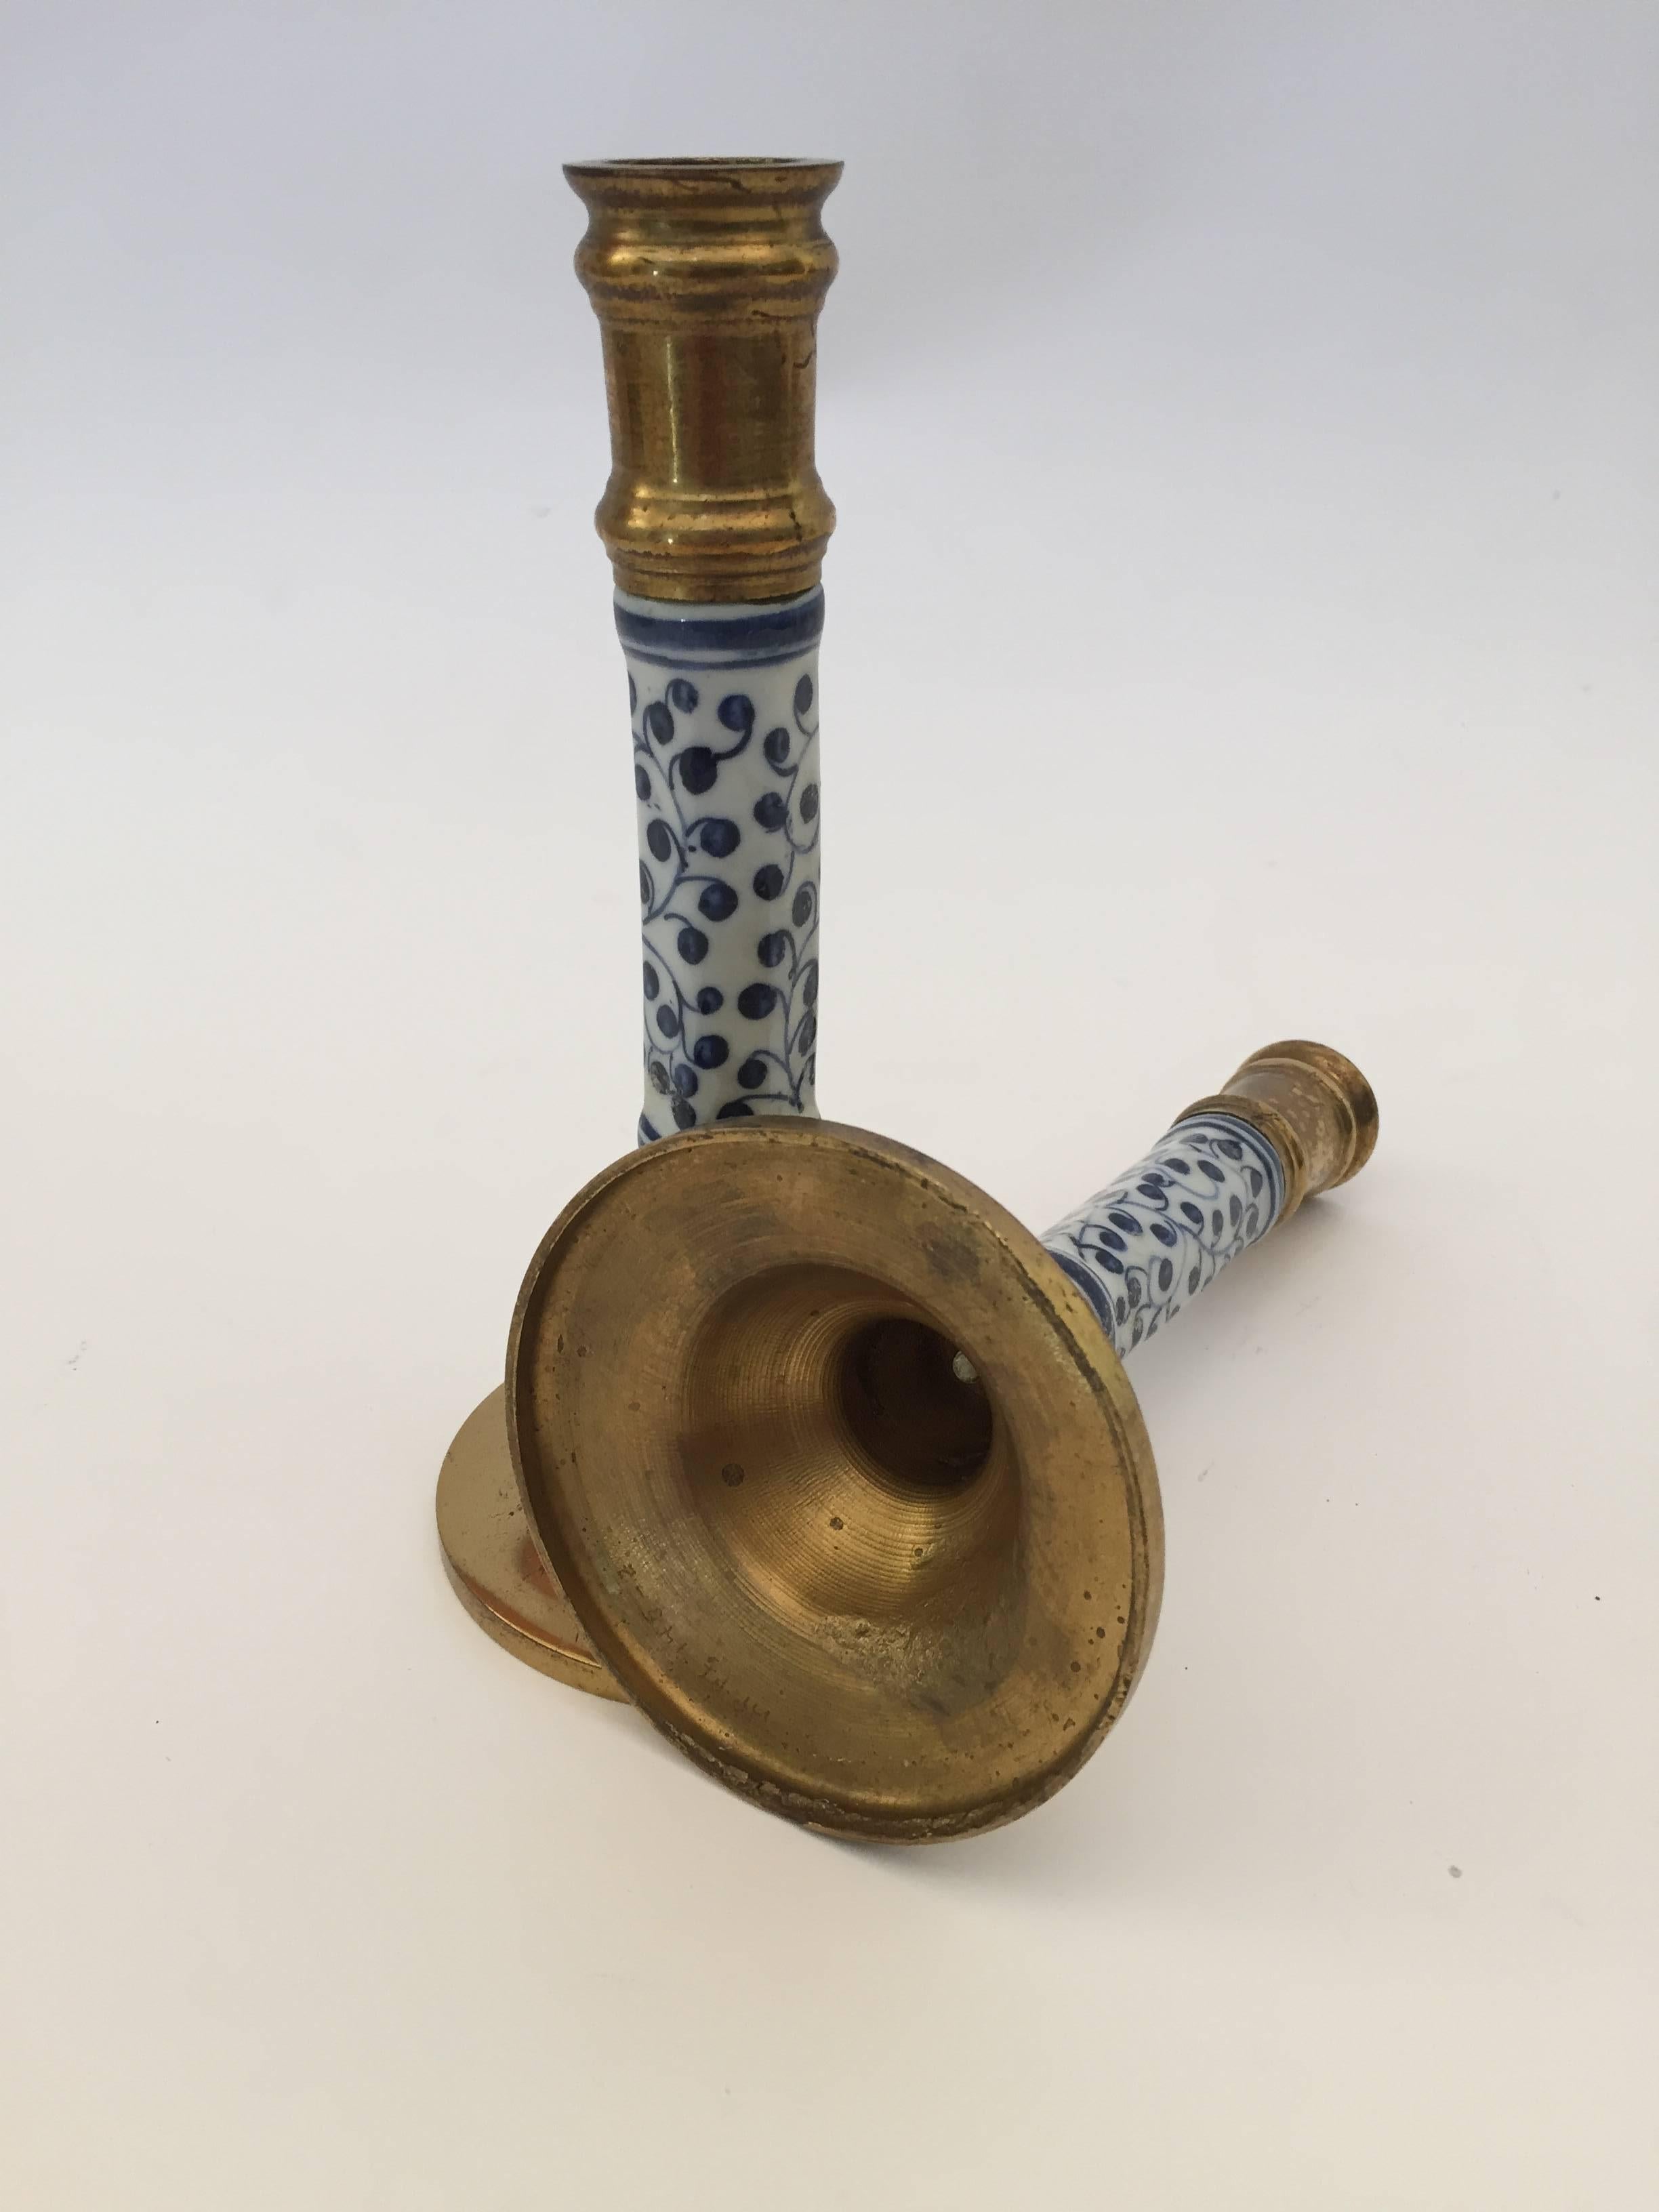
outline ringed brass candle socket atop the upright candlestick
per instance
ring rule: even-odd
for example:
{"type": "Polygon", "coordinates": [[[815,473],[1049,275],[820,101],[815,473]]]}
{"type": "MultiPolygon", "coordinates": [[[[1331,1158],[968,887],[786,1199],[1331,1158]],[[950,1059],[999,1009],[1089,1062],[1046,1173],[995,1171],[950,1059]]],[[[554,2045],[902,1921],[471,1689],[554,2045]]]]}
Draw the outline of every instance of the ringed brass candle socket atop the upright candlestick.
{"type": "Polygon", "coordinates": [[[571,161],[575,272],[604,332],[611,482],[595,522],[624,591],[787,599],[836,524],[814,462],[821,208],[838,161],[571,161]]]}

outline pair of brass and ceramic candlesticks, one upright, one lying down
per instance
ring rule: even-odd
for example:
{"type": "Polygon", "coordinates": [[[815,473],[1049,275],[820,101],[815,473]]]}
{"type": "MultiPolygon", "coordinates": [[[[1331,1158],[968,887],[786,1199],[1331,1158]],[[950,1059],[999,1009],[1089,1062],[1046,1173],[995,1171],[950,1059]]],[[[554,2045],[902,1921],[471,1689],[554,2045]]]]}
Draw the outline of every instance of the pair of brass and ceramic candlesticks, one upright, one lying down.
{"type": "Polygon", "coordinates": [[[1042,1239],[818,1119],[841,164],[566,177],[611,403],[646,1095],[442,1464],[445,1559],[498,1644],[633,1699],[752,1803],[969,1836],[1053,1796],[1146,1663],[1161,1511],[1121,1356],[1358,1172],[1376,1099],[1327,1046],[1265,1046],[1042,1239]]]}

